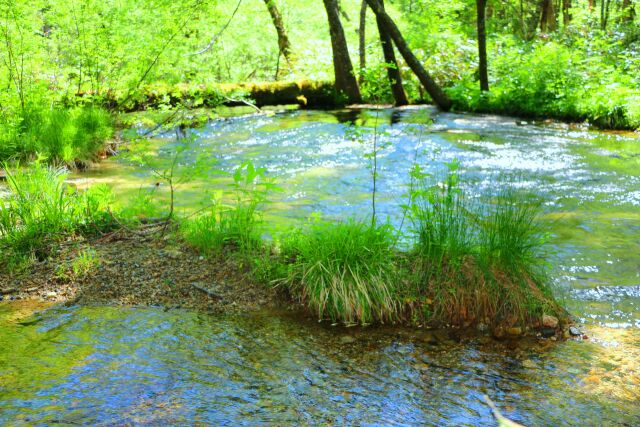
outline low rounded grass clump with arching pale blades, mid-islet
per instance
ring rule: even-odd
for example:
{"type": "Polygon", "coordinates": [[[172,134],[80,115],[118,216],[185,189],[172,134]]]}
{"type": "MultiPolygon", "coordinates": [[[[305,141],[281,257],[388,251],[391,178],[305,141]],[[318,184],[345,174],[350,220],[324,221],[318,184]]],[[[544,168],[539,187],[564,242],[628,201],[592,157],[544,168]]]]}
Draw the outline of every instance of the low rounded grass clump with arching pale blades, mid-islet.
{"type": "Polygon", "coordinates": [[[346,324],[399,318],[394,236],[388,226],[314,221],[283,244],[284,280],[320,319],[346,324]]]}

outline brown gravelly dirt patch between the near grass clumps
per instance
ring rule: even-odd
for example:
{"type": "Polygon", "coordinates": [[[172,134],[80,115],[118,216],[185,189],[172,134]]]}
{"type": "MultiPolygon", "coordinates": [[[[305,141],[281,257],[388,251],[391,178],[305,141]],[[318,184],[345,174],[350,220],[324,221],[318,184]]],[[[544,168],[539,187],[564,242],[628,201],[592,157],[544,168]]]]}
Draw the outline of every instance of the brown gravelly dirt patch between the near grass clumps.
{"type": "Polygon", "coordinates": [[[125,232],[67,242],[20,274],[0,273],[0,299],[69,304],[150,305],[212,312],[276,305],[276,292],[251,280],[233,258],[204,258],[171,238],[125,232]],[[90,253],[89,266],[74,259],[90,253]]]}

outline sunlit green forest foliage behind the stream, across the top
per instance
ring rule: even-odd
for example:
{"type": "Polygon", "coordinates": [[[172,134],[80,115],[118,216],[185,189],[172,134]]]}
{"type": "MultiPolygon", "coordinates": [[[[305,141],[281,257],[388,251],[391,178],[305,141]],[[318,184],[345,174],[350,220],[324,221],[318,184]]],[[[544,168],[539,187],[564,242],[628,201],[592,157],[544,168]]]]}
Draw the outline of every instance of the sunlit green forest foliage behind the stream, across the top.
{"type": "MultiPolygon", "coordinates": [[[[364,100],[391,102],[376,18],[364,6],[339,2],[349,54],[364,100]]],[[[386,2],[454,109],[620,129],[640,127],[635,7],[630,0],[386,2]],[[485,93],[476,41],[483,5],[485,93]]],[[[4,160],[36,152],[67,162],[91,157],[110,133],[110,118],[78,106],[162,108],[176,98],[189,107],[214,106],[229,93],[246,95],[233,86],[221,93],[219,83],[333,80],[320,0],[2,0],[0,19],[4,160]]],[[[429,101],[397,57],[409,100],[429,101]]]]}

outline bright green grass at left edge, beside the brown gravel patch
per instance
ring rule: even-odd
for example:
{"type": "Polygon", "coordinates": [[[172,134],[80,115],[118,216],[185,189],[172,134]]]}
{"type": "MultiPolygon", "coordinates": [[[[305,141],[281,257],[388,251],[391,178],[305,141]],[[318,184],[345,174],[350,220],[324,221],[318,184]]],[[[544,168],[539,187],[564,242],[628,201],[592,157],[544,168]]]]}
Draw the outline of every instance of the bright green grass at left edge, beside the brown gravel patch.
{"type": "Polygon", "coordinates": [[[9,195],[0,205],[1,264],[14,268],[46,259],[52,245],[71,234],[114,226],[108,187],[78,192],[65,183],[66,170],[34,163],[6,168],[9,195]]]}

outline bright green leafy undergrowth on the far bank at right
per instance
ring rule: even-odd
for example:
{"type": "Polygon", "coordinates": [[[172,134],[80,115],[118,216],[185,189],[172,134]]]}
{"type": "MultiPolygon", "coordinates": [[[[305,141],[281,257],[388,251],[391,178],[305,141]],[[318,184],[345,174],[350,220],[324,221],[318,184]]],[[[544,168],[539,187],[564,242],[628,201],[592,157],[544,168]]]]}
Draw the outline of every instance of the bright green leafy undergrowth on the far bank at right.
{"type": "Polygon", "coordinates": [[[492,58],[489,92],[473,76],[448,88],[455,109],[640,129],[637,79],[553,41],[506,44],[492,58]]]}

